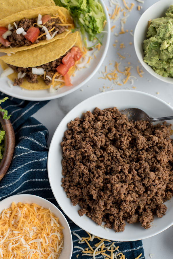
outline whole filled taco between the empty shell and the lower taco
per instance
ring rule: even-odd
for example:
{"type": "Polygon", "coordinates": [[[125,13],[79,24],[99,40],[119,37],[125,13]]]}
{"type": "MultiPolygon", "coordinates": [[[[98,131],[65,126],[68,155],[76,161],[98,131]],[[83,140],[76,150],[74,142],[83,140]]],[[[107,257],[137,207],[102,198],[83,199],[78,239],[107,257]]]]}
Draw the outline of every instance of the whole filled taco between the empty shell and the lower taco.
{"type": "Polygon", "coordinates": [[[63,39],[74,28],[64,7],[42,6],[0,20],[0,52],[10,53],[63,39]]]}

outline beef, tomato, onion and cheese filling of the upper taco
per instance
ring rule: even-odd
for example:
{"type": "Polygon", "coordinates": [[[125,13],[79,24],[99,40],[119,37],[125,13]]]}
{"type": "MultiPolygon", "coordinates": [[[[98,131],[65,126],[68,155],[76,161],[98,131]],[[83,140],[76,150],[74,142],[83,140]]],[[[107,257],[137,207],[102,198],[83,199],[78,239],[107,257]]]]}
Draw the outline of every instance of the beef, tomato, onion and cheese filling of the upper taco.
{"type": "Polygon", "coordinates": [[[55,35],[68,31],[68,26],[58,14],[50,16],[38,15],[37,18],[23,18],[7,27],[0,27],[1,48],[29,46],[40,40],[53,39],[55,35]]]}

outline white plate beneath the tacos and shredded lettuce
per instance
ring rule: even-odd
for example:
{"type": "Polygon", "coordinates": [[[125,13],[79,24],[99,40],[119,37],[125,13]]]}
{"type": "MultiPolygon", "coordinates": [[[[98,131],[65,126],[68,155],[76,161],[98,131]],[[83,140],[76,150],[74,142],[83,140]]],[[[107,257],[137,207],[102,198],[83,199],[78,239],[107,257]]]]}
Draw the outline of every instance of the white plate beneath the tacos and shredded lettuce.
{"type": "MultiPolygon", "coordinates": [[[[102,46],[99,50],[99,52],[96,54],[96,59],[93,58],[90,61],[90,66],[88,68],[83,68],[81,71],[75,72],[75,77],[71,77],[71,83],[73,86],[64,86],[62,88],[59,88],[57,91],[50,93],[49,89],[45,90],[35,90],[35,91],[30,91],[26,90],[24,88],[21,88],[20,86],[14,86],[14,87],[9,87],[7,83],[7,78],[0,79],[0,91],[19,98],[23,100],[29,100],[29,101],[45,101],[45,100],[52,100],[56,99],[59,97],[62,97],[66,94],[70,94],[80,88],[82,85],[87,83],[98,71],[99,67],[103,63],[103,60],[106,56],[108,46],[109,46],[109,41],[110,41],[110,35],[111,35],[111,29],[110,29],[110,20],[109,20],[109,14],[106,9],[106,6],[104,4],[103,0],[99,0],[103,7],[103,11],[106,15],[106,20],[107,23],[105,24],[104,31],[107,31],[107,33],[102,33],[102,46]]],[[[98,35],[100,37],[100,35],[98,35]]],[[[89,43],[91,46],[92,42],[89,43]]],[[[93,43],[94,45],[94,43],[93,43]]],[[[91,52],[89,51],[88,54],[91,52]]],[[[2,73],[2,69],[0,67],[0,74],[2,73]]]]}

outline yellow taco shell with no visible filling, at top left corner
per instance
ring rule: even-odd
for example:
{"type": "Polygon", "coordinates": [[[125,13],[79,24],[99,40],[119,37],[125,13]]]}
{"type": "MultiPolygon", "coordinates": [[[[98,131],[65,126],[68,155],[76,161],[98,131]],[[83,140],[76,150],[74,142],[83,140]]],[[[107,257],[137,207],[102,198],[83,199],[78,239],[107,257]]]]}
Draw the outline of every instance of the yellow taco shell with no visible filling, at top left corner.
{"type": "Polygon", "coordinates": [[[53,6],[53,0],[0,0],[0,19],[39,6],[53,6]]]}

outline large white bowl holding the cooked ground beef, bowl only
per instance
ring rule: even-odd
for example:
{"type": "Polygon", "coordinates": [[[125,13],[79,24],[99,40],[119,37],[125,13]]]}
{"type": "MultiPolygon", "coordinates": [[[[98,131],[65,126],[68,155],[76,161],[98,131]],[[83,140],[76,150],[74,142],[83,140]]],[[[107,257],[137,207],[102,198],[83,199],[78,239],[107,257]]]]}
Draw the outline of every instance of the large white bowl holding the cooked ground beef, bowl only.
{"type": "MultiPolygon", "coordinates": [[[[118,109],[125,108],[140,108],[147,112],[152,117],[164,117],[171,116],[173,114],[173,108],[161,99],[134,90],[115,90],[92,96],[83,102],[79,103],[73,108],[58,125],[48,153],[48,176],[50,186],[54,193],[54,196],[65,212],[65,214],[75,222],[79,227],[83,228],[98,237],[105,239],[111,239],[116,241],[133,241],[139,239],[145,239],[156,235],[173,224],[173,199],[167,201],[165,204],[168,207],[166,215],[163,218],[155,217],[151,223],[151,228],[144,229],[139,223],[126,224],[125,231],[121,233],[115,233],[113,229],[109,229],[109,232],[104,230],[101,226],[98,226],[87,216],[80,217],[78,214],[79,206],[73,207],[71,200],[66,197],[64,188],[61,187],[62,179],[62,151],[60,143],[64,136],[64,131],[67,129],[67,123],[74,120],[76,117],[82,117],[82,113],[86,111],[94,111],[95,107],[104,109],[116,106],[118,109]]],[[[169,121],[169,123],[173,123],[169,121]]]]}

